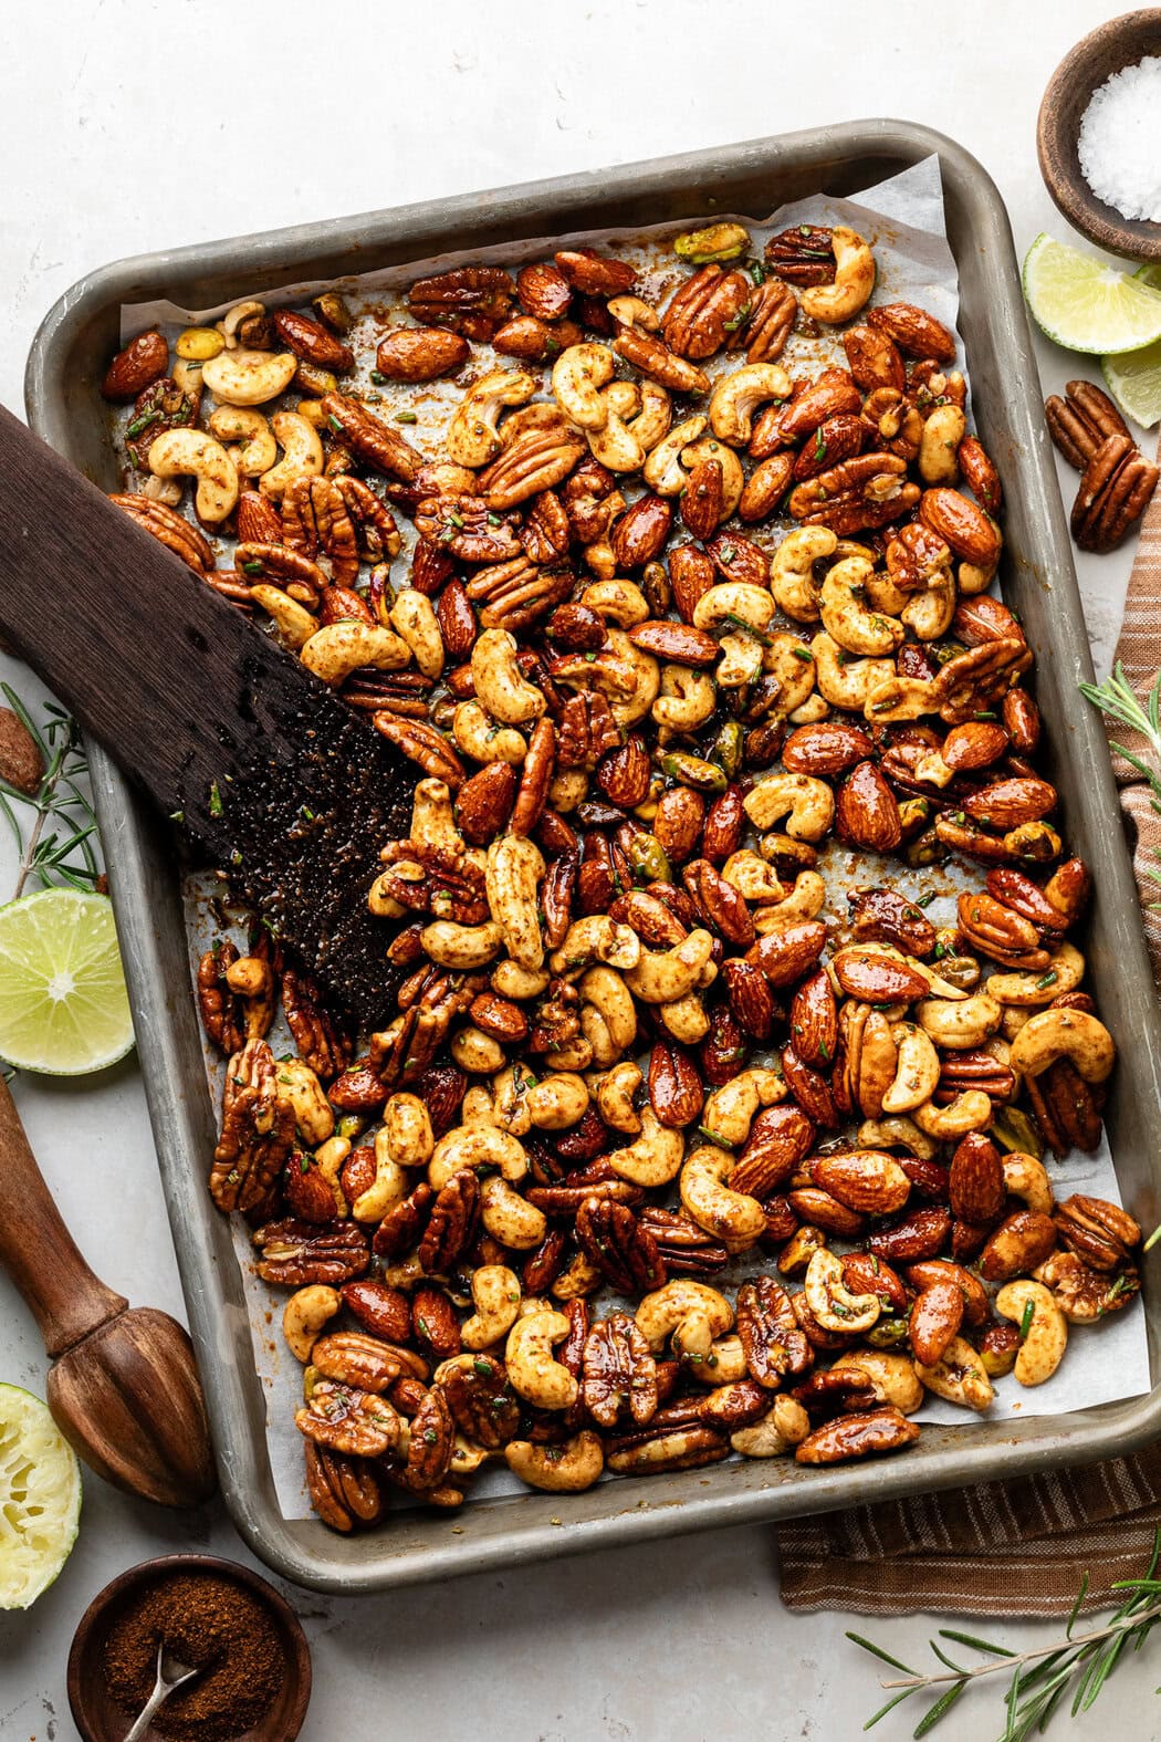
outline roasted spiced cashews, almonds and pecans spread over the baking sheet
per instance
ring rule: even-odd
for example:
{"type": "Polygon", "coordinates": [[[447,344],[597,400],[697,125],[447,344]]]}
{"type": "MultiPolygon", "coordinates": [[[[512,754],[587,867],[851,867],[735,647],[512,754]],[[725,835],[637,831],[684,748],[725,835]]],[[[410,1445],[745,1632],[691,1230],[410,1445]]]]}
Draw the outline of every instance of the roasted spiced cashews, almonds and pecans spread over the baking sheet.
{"type": "Polygon", "coordinates": [[[355,1056],[266,934],[198,974],[211,1192],[291,1291],[336,1529],[487,1460],[574,1491],[891,1451],[1138,1286],[1133,1218],[1043,1160],[1098,1144],[1114,1047],[954,338],[870,307],[849,230],[752,256],[714,225],[660,287],[592,251],[421,279],[360,392],[334,294],[110,368],[122,507],[418,765],[369,892],[386,1030],[355,1056]],[[844,366],[780,362],[827,336],[844,366]],[[447,376],[423,453],[392,395],[447,376]],[[898,868],[841,918],[830,838],[898,868]]]}

